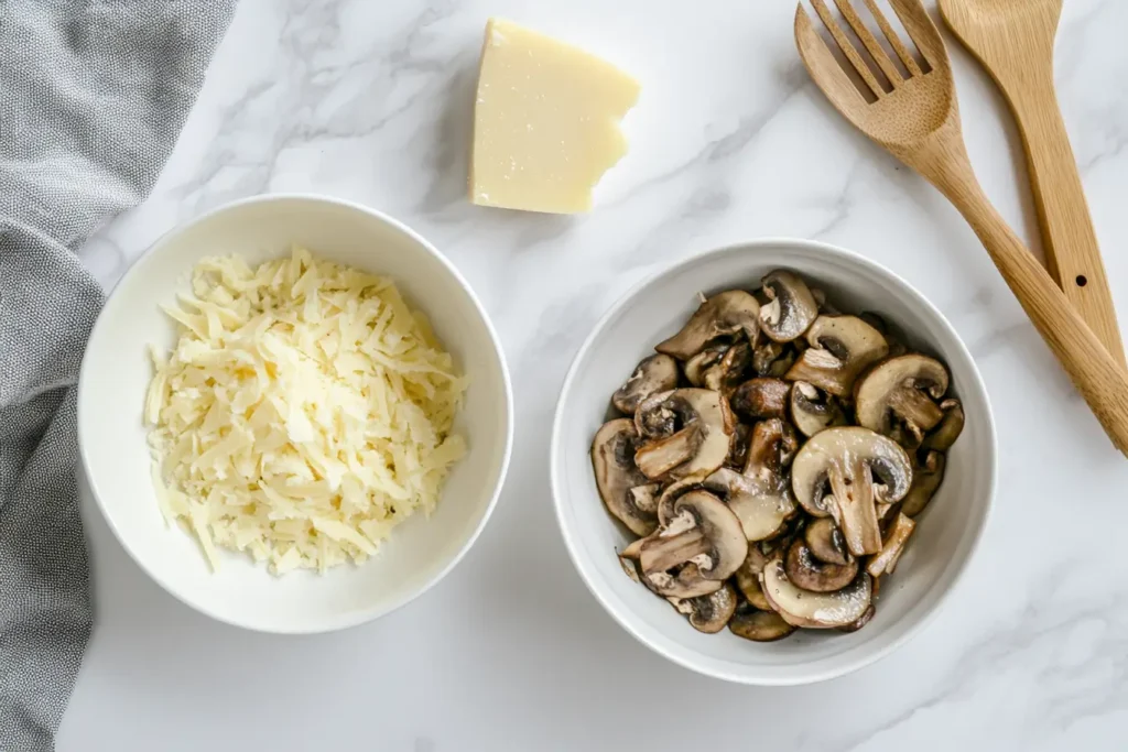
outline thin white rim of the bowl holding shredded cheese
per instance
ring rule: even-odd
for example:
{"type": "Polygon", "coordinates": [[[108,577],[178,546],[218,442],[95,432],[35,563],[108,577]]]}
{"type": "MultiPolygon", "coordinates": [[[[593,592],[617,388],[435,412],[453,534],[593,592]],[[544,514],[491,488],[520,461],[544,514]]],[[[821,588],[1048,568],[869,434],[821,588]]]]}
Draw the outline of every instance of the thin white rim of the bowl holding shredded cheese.
{"type": "Polygon", "coordinates": [[[199,611],[200,613],[203,613],[204,616],[210,617],[219,622],[230,625],[232,627],[239,627],[241,629],[247,629],[250,631],[256,631],[262,634],[273,634],[273,635],[315,635],[315,634],[340,631],[343,629],[358,627],[360,625],[374,621],[380,617],[387,616],[388,613],[391,613],[393,611],[396,611],[407,605],[408,603],[411,603],[412,601],[420,598],[429,590],[438,585],[439,582],[442,581],[448,574],[450,574],[450,572],[456,566],[458,566],[458,564],[462,560],[462,558],[469,552],[474,543],[477,542],[478,537],[482,534],[482,531],[485,530],[486,523],[490,521],[490,517],[493,515],[494,510],[497,506],[497,502],[501,497],[501,493],[504,489],[506,476],[509,475],[510,460],[513,453],[513,434],[514,434],[514,419],[515,419],[514,405],[513,405],[513,386],[512,386],[512,380],[510,378],[509,364],[506,363],[505,360],[505,350],[502,347],[501,338],[497,336],[497,331],[494,328],[493,321],[490,319],[490,315],[486,311],[485,307],[482,304],[482,301],[478,299],[477,293],[474,292],[474,289],[470,286],[469,282],[466,281],[466,278],[458,271],[458,268],[450,262],[450,259],[448,259],[442,253],[439,251],[439,249],[434,245],[432,245],[422,235],[413,230],[406,223],[379,210],[372,209],[359,202],[318,193],[301,193],[301,192],[267,193],[267,194],[257,194],[254,196],[247,196],[210,209],[206,212],[187,220],[186,222],[182,222],[166,230],[142,254],[140,254],[135,259],[133,259],[132,263],[130,263],[129,268],[125,271],[124,274],[121,275],[121,277],[114,284],[113,289],[106,295],[106,301],[102,310],[98,312],[98,318],[95,321],[94,327],[91,327],[90,329],[90,336],[87,339],[87,343],[89,344],[90,342],[94,342],[100,327],[105,326],[104,313],[113,303],[114,295],[118,292],[118,290],[122,289],[122,285],[127,280],[131,280],[135,274],[139,273],[138,269],[141,267],[143,260],[148,259],[152,255],[160,253],[160,249],[167,246],[174,238],[178,237],[179,235],[188,231],[190,229],[196,227],[197,224],[201,224],[202,222],[218,214],[222,214],[229,211],[235,211],[253,204],[268,204],[281,201],[301,201],[301,202],[332,204],[354,212],[367,214],[370,218],[384,222],[385,224],[390,225],[395,230],[404,233],[411,240],[413,240],[422,251],[426,253],[433,259],[439,262],[439,264],[442,265],[442,267],[447,271],[447,273],[455,278],[455,281],[459,284],[459,286],[461,286],[461,289],[466,292],[467,297],[470,300],[470,303],[477,311],[478,318],[482,320],[482,324],[486,328],[494,354],[497,357],[497,364],[500,366],[499,370],[501,372],[501,382],[505,397],[505,412],[506,412],[505,445],[502,453],[501,466],[497,472],[497,480],[494,484],[494,488],[491,493],[490,503],[486,505],[485,511],[482,513],[482,516],[478,520],[474,530],[472,531],[470,536],[466,539],[462,546],[455,552],[455,555],[450,558],[450,560],[447,561],[438,572],[435,572],[426,582],[424,582],[423,585],[418,587],[415,592],[407,593],[380,608],[359,610],[347,618],[338,618],[321,625],[310,625],[301,628],[287,628],[284,626],[275,627],[272,625],[244,622],[239,619],[231,618],[224,613],[221,613],[201,603],[196,603],[194,600],[191,599],[188,593],[179,592],[177,589],[173,587],[168,582],[166,582],[165,578],[158,576],[136,555],[132,546],[130,546],[129,541],[126,540],[125,536],[123,536],[121,530],[118,530],[117,524],[114,522],[113,516],[107,511],[107,507],[103,502],[103,495],[98,492],[98,486],[95,476],[90,471],[91,463],[87,454],[87,446],[89,445],[89,442],[92,441],[92,439],[86,436],[86,431],[83,430],[83,423],[82,423],[82,401],[83,401],[83,395],[86,393],[83,384],[88,383],[88,379],[86,377],[87,377],[87,364],[89,362],[89,359],[87,357],[89,347],[87,347],[83,351],[82,364],[79,368],[79,379],[77,384],[78,397],[76,400],[76,422],[77,422],[76,433],[78,435],[78,449],[79,449],[79,457],[81,459],[82,474],[86,477],[86,484],[90,490],[90,496],[94,497],[95,505],[98,507],[98,511],[100,512],[103,520],[106,521],[106,524],[109,528],[111,532],[114,534],[114,538],[117,540],[117,543],[123,549],[125,549],[125,552],[133,560],[133,563],[142,572],[144,572],[150,580],[160,585],[160,587],[166,593],[175,598],[180,603],[184,603],[185,605],[190,607],[191,609],[199,611]]]}

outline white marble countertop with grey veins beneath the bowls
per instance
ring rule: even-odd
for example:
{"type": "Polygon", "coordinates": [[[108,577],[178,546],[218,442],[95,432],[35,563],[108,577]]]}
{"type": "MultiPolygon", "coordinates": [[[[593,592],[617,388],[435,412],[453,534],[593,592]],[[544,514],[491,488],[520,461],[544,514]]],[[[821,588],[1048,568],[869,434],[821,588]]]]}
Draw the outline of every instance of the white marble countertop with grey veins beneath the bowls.
{"type": "MultiPolygon", "coordinates": [[[[263,192],[387,211],[451,258],[500,330],[518,408],[512,471],[485,533],[438,587],[317,637],[250,634],[188,610],[87,504],[96,628],[60,750],[1128,749],[1128,557],[1117,538],[1128,462],[954,210],[811,85],[793,9],[243,0],[152,196],[105,228],[86,263],[108,287],[173,224],[263,192]],[[465,198],[491,15],[643,82],[631,153],[590,215],[465,198]],[[794,689],[698,676],[619,629],[572,568],[547,480],[557,390],[601,311],[673,259],[763,236],[856,249],[924,291],[982,369],[1002,448],[986,538],[940,617],[874,666],[794,689]]],[[[1069,0],[1057,80],[1128,331],[1126,29],[1128,3],[1069,0]]],[[[1014,130],[949,39],[972,159],[1029,238],[1014,130]]]]}

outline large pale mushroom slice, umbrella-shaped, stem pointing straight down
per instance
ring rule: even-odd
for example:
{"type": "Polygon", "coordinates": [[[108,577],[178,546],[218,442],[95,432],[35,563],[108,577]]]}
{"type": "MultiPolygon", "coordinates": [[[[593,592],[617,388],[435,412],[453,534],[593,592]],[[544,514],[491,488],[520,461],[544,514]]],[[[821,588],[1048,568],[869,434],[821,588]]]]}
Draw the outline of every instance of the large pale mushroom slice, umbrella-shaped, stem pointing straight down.
{"type": "Polygon", "coordinates": [[[832,516],[851,554],[864,556],[881,550],[875,504],[908,493],[913,463],[897,442],[869,428],[827,428],[799,450],[791,480],[803,508],[832,516]]]}

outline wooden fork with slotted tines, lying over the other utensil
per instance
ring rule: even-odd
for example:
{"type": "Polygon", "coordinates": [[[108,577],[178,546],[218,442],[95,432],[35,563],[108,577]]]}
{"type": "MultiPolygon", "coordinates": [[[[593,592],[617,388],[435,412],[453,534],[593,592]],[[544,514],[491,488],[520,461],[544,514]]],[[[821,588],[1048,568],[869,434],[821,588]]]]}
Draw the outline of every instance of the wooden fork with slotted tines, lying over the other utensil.
{"type": "Polygon", "coordinates": [[[920,172],[963,214],[1112,443],[1128,454],[1128,374],[1069,306],[979,186],[963,142],[948,51],[919,0],[889,0],[889,3],[924,57],[927,71],[909,53],[875,1],[864,0],[907,76],[885,53],[851,0],[835,0],[835,5],[876,63],[876,70],[862,57],[823,0],[810,1],[865,87],[866,96],[831,54],[800,5],[795,12],[795,41],[814,82],[846,120],[920,172]],[[885,91],[879,73],[891,91],[885,91]]]}

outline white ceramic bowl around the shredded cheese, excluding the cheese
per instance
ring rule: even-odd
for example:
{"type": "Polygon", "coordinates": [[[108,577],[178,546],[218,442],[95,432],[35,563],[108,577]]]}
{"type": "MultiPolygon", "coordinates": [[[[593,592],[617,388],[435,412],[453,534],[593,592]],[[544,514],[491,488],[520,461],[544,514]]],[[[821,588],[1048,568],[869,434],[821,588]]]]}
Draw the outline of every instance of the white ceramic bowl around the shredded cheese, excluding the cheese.
{"type": "Polygon", "coordinates": [[[378,212],[316,196],[259,196],[218,209],[161,238],[122,277],[99,316],[82,362],[78,398],[82,463],[109,528],[133,559],[188,605],[240,627],[327,631],[374,619],[442,578],[493,511],[509,463],[513,399],[501,344],[466,281],[430,244],[378,212]],[[188,290],[201,258],[239,254],[252,263],[292,244],[393,277],[423,310],[470,375],[456,428],[469,452],[431,515],[397,528],[363,566],[325,576],[276,578],[248,557],[224,554],[212,574],[196,542],[166,528],[149,476],[142,404],[152,375],[147,346],[170,346],[175,329],[158,306],[188,290]]]}

